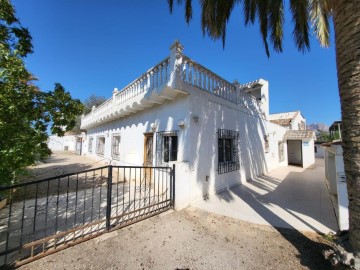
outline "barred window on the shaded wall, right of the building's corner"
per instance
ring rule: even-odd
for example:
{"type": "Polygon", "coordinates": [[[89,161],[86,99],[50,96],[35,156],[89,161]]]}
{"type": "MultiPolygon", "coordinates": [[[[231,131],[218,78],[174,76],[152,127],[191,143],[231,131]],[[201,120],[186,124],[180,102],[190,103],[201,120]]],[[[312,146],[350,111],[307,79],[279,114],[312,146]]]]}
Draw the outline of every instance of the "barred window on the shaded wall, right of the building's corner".
{"type": "Polygon", "coordinates": [[[239,132],[218,129],[218,173],[240,169],[238,156],[239,132]]]}

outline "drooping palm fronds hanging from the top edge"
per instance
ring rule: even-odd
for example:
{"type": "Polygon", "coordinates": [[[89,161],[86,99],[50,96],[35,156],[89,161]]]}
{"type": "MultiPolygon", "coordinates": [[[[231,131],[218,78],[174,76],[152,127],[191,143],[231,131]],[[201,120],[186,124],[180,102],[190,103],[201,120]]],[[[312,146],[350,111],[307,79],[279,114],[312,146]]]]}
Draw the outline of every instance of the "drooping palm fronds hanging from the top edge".
{"type": "MultiPolygon", "coordinates": [[[[174,0],[167,0],[170,12],[174,0]]],[[[260,33],[267,56],[270,55],[269,43],[276,52],[282,52],[284,2],[283,0],[200,0],[201,28],[203,34],[212,39],[226,41],[226,27],[236,5],[242,5],[245,25],[259,22],[260,33]]],[[[176,0],[177,5],[185,6],[185,20],[192,19],[192,0],[176,0]],[[185,2],[185,3],[183,3],[185,2]]],[[[289,9],[293,17],[293,38],[297,48],[304,52],[310,49],[311,28],[320,44],[330,45],[329,17],[334,1],[329,0],[289,0],[289,9]]]]}

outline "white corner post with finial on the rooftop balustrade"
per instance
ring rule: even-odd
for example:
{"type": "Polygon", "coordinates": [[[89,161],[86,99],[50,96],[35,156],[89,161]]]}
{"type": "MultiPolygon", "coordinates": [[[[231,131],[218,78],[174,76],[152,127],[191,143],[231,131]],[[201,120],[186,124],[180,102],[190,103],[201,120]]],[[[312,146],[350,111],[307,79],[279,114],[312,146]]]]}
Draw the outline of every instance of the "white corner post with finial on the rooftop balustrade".
{"type": "Polygon", "coordinates": [[[184,47],[177,40],[170,46],[170,59],[169,59],[170,76],[169,76],[168,86],[173,89],[176,89],[177,84],[181,81],[180,69],[182,64],[183,50],[184,47]]]}

